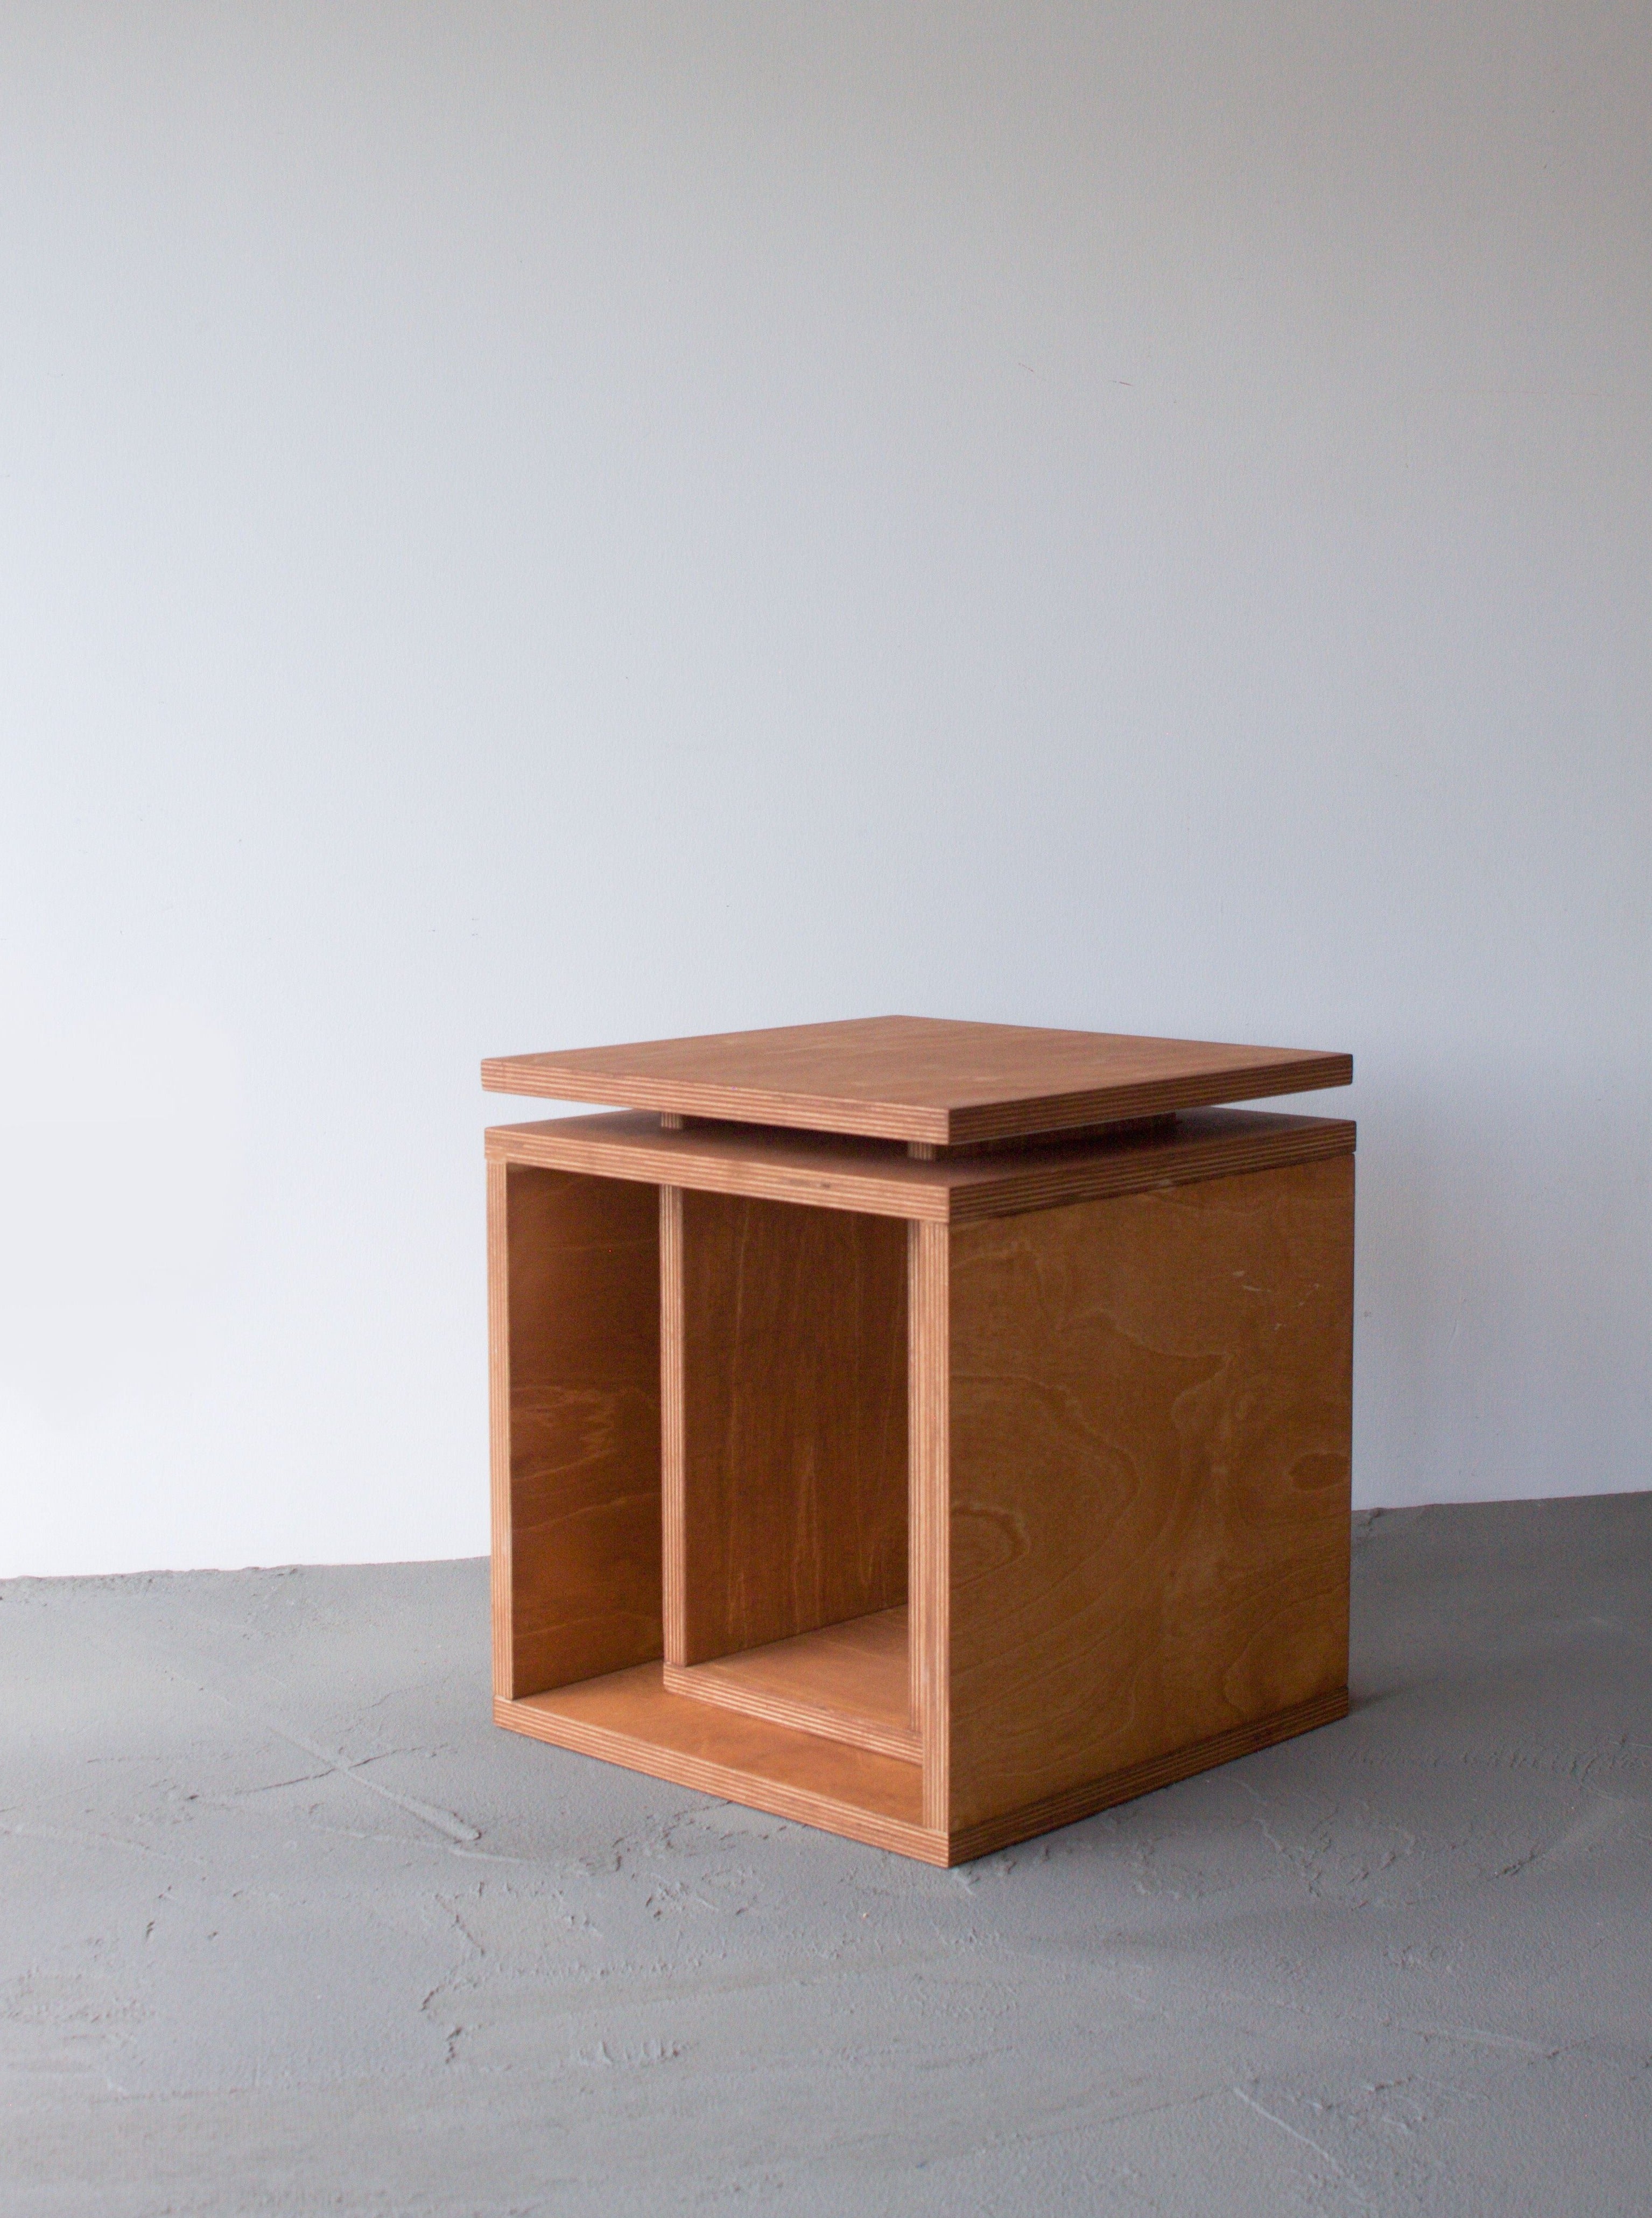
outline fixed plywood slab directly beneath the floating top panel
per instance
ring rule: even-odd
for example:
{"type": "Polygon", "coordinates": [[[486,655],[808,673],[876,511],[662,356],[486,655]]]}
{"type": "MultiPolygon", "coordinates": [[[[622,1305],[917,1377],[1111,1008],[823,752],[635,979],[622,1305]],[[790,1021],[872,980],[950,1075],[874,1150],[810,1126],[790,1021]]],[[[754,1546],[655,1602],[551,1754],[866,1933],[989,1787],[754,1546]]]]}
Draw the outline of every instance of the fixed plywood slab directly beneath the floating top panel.
{"type": "Polygon", "coordinates": [[[656,1118],[621,1111],[494,1125],[486,1144],[494,1162],[537,1162],[696,1193],[743,1193],[812,1209],[969,1224],[1107,1193],[1144,1193],[1277,1162],[1346,1156],[1355,1144],[1355,1127],[1342,1118],[1193,1109],[1173,1122],[1111,1138],[1091,1133],[922,1162],[885,1140],[743,1125],[661,1131],[656,1118]]]}

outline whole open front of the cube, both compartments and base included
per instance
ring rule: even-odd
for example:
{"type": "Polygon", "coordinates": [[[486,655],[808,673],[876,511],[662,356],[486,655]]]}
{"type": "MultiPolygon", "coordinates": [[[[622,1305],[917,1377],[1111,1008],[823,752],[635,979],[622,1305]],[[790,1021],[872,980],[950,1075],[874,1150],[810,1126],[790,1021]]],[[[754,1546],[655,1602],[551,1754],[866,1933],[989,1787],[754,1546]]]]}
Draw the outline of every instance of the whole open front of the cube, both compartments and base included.
{"type": "Polygon", "coordinates": [[[907,1624],[907,1224],[490,1178],[499,1723],[940,1861],[907,1624]]]}

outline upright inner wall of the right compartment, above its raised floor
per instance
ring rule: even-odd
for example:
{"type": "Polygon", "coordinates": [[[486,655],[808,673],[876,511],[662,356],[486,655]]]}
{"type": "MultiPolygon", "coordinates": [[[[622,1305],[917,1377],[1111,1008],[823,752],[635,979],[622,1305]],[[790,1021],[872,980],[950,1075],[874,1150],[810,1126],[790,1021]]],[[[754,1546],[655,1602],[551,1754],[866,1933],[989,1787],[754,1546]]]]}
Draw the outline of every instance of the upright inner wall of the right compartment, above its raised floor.
{"type": "Polygon", "coordinates": [[[672,1664],[907,1599],[907,1242],[887,1218],[683,1193],[672,1664]]]}

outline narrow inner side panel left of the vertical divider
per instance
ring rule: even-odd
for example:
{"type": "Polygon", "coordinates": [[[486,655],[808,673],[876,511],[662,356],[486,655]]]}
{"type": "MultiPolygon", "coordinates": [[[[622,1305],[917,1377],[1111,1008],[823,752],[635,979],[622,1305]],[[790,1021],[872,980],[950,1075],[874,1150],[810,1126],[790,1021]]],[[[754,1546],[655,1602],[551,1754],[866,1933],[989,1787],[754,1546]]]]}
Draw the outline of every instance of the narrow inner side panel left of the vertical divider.
{"type": "Polygon", "coordinates": [[[512,1164],[494,1266],[497,1666],[521,1697],[661,1655],[654,1189],[512,1164]]]}

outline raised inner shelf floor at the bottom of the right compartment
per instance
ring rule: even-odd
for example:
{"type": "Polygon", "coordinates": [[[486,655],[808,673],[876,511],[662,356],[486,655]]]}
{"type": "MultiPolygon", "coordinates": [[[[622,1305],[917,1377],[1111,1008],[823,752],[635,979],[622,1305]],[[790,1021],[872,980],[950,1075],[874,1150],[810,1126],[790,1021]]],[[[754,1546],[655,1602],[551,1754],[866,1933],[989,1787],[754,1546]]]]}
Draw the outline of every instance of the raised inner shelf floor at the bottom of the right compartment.
{"type": "Polygon", "coordinates": [[[909,1763],[922,1754],[911,1723],[905,1606],[745,1648],[716,1664],[667,1664],[665,1688],[909,1763]]]}

